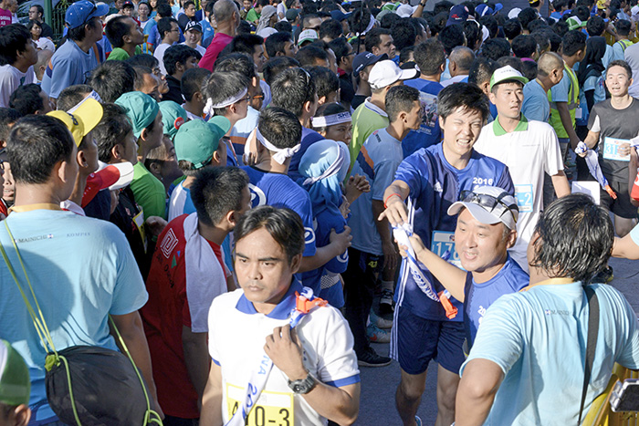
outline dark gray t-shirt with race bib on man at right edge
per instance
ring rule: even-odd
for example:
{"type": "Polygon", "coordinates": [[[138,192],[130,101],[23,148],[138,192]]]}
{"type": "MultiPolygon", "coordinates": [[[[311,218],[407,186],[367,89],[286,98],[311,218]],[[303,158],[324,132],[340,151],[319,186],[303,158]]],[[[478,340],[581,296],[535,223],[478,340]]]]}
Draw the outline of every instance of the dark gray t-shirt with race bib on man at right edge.
{"type": "Polygon", "coordinates": [[[610,182],[628,182],[630,156],[622,158],[616,154],[623,142],[629,142],[639,134],[639,101],[633,99],[628,108],[614,109],[611,99],[592,107],[588,119],[588,130],[599,134],[599,164],[603,175],[610,182]]]}

